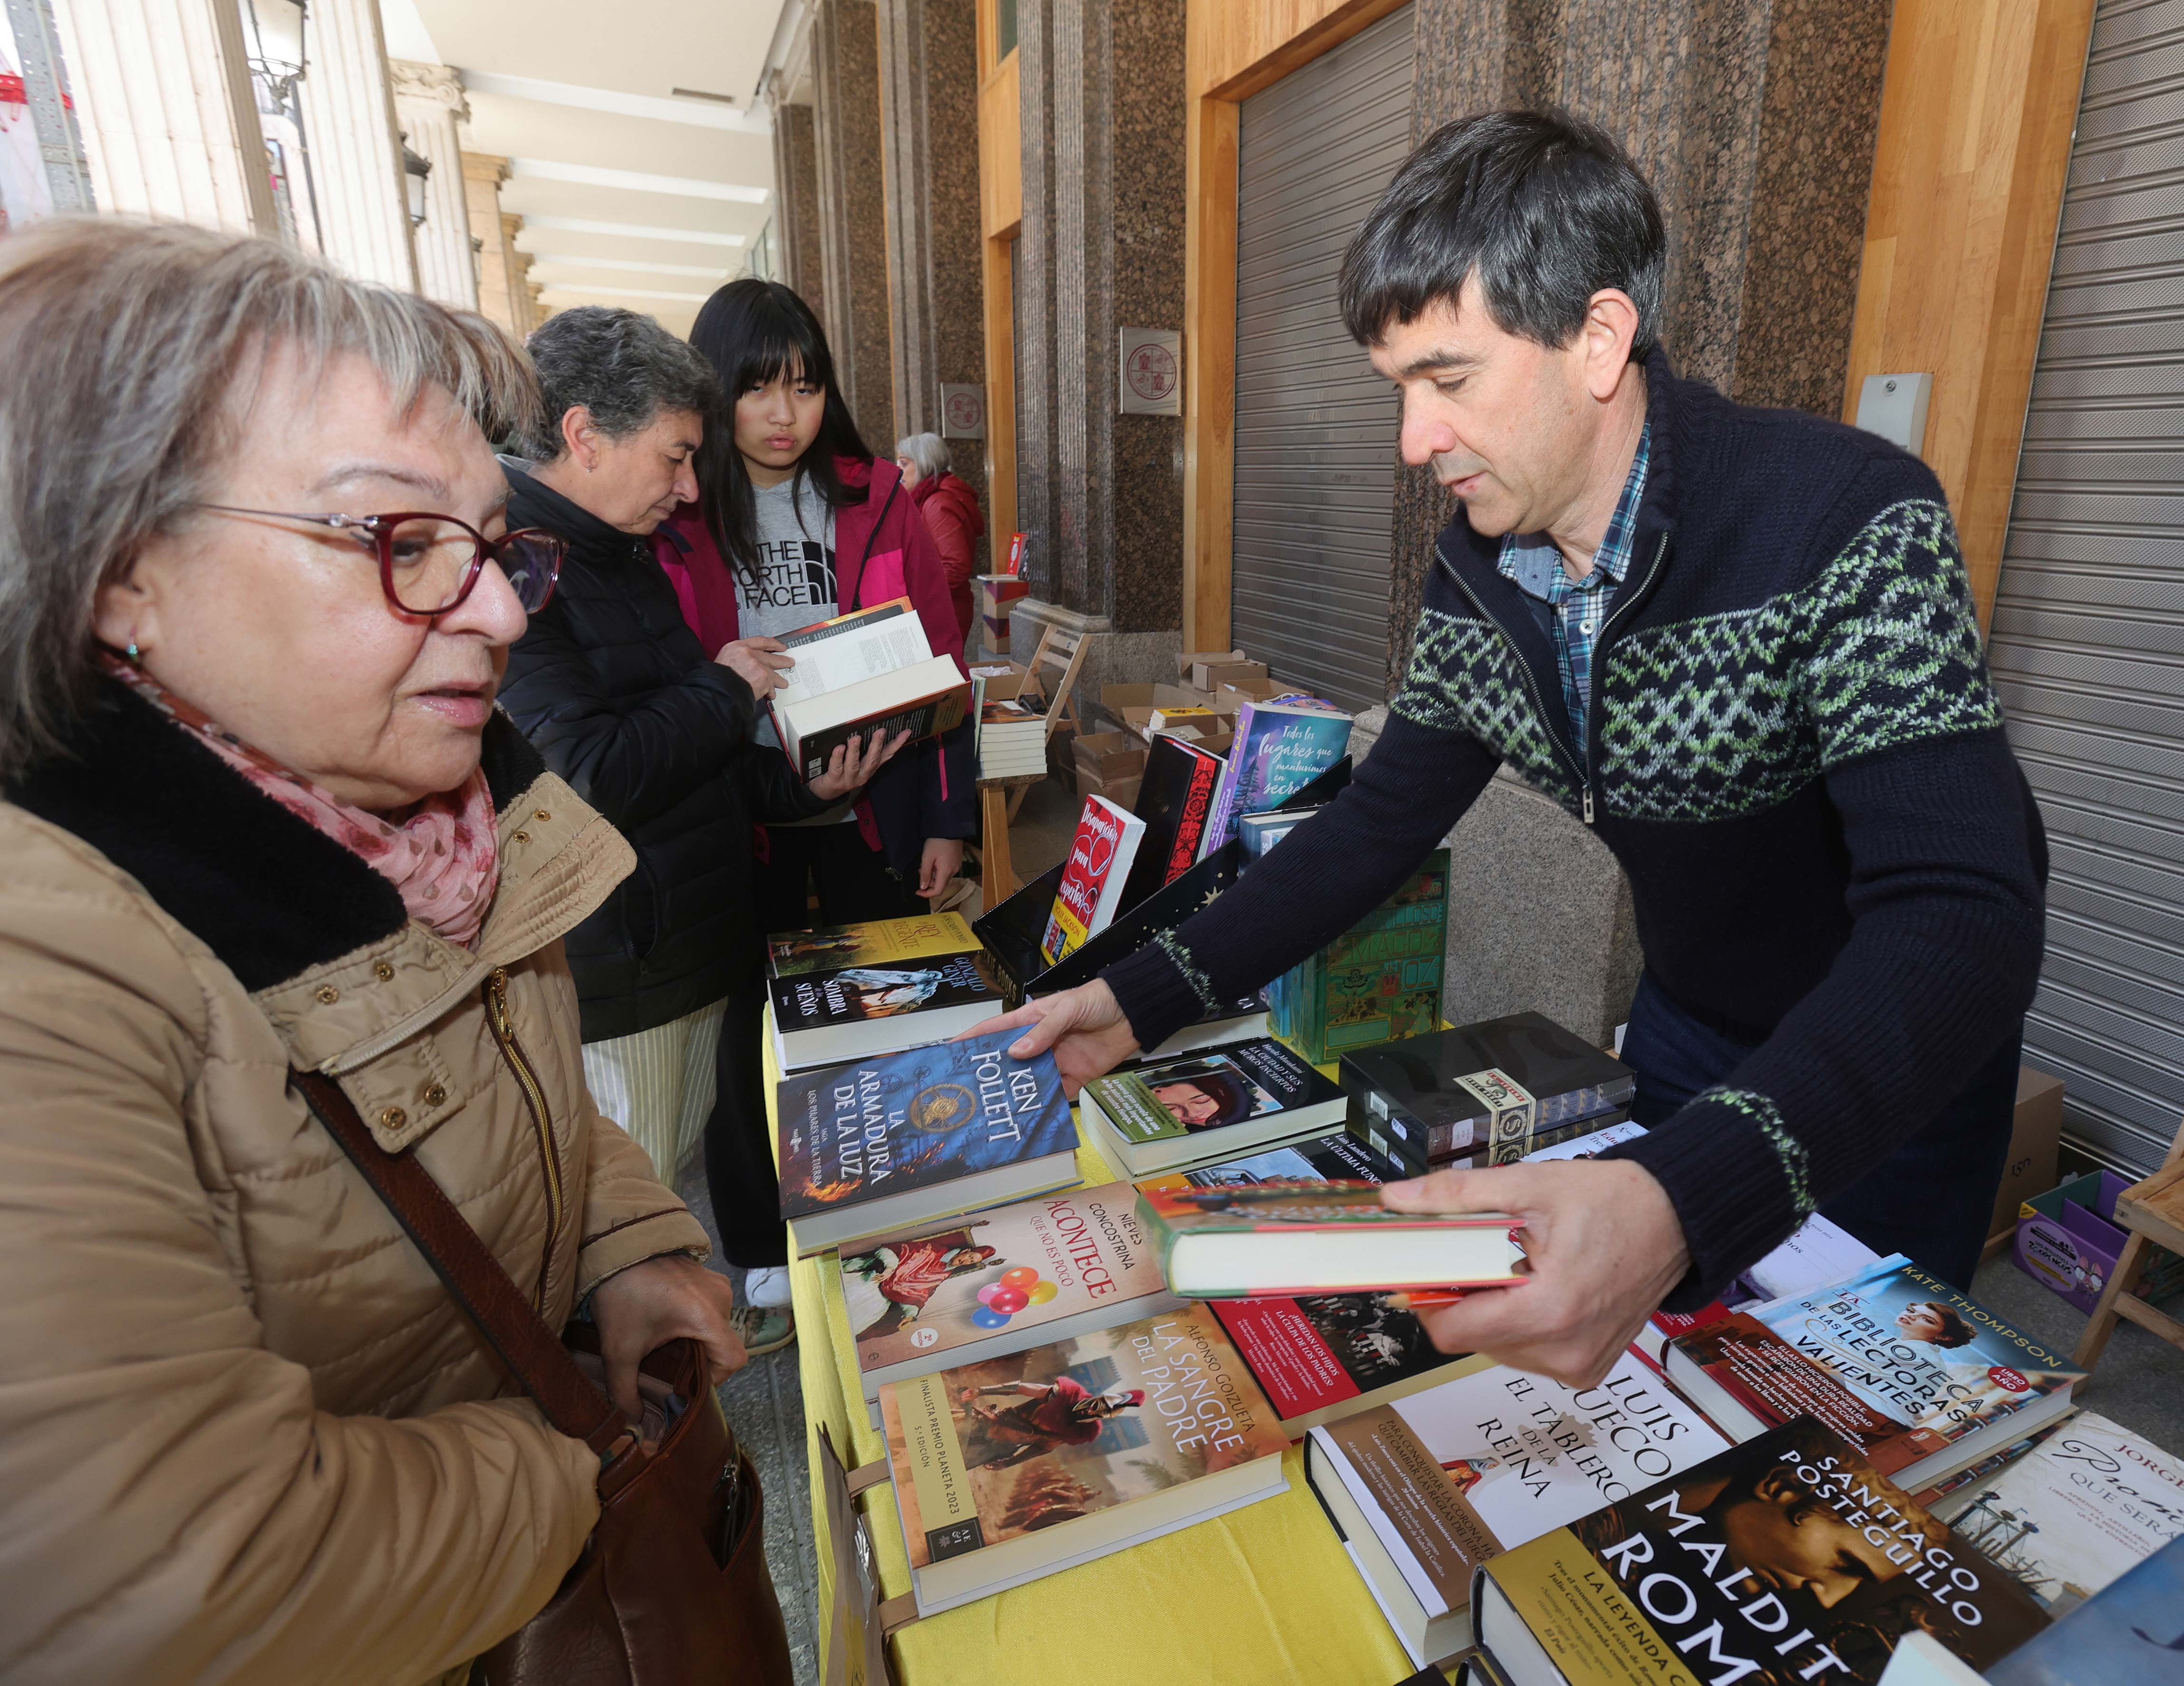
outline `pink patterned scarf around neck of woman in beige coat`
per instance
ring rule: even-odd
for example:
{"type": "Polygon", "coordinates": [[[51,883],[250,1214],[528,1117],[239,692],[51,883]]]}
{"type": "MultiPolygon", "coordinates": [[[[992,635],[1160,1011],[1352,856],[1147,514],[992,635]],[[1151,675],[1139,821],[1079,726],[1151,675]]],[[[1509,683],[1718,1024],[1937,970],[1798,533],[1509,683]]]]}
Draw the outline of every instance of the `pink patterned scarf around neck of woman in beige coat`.
{"type": "Polygon", "coordinates": [[[485,786],[483,767],[472,771],[461,788],[426,797],[411,808],[406,819],[395,823],[352,808],[325,788],[290,773],[271,756],[251,749],[234,732],[223,729],[166,690],[144,668],[122,662],[118,655],[100,655],[100,662],[109,675],[173,719],[282,808],[325,832],[402,891],[402,906],[417,924],[463,948],[478,939],[500,865],[494,795],[485,786]]]}

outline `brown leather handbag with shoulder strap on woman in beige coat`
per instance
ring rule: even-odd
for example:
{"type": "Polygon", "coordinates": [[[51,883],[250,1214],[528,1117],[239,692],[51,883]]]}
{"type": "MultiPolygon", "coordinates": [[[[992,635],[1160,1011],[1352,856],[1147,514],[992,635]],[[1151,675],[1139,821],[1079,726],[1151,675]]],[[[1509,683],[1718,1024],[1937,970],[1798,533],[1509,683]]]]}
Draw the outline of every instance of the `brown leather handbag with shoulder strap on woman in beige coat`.
{"type": "MultiPolygon", "coordinates": [[[[476,1660],[472,1686],[788,1686],[758,1472],[721,1415],[697,1341],[644,1361],[655,1439],[644,1450],[587,1374],[596,1361],[555,1339],[417,1160],[371,1140],[330,1077],[290,1077],[546,1422],[601,1457],[598,1527],[583,1555],[537,1616],[476,1660]]],[[[596,1352],[581,1323],[570,1341],[596,1352]]]]}

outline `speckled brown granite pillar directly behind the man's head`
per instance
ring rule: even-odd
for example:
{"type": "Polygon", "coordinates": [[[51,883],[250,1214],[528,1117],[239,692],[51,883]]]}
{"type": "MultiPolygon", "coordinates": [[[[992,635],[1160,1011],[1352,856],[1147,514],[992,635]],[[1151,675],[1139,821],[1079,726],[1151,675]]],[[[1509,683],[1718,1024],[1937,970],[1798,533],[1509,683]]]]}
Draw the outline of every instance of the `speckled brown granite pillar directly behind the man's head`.
{"type": "MultiPolygon", "coordinates": [[[[1559,103],[1614,133],[1669,223],[1662,343],[1749,404],[1841,408],[1887,0],[1417,0],[1417,133],[1559,103]]],[[[1446,496],[1400,476],[1391,679],[1446,496]]]]}

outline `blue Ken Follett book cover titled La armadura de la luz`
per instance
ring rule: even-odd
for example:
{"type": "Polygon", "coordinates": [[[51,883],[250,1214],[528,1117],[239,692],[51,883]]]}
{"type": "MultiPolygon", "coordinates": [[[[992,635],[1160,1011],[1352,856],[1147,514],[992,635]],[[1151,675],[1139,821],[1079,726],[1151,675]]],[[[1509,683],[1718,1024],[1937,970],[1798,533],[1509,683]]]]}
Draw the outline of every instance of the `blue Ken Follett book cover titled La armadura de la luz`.
{"type": "Polygon", "coordinates": [[[1055,1057],[1011,1059],[1018,1035],[937,1042],[784,1079],[782,1216],[1072,1155],[1077,1127],[1055,1057]]]}

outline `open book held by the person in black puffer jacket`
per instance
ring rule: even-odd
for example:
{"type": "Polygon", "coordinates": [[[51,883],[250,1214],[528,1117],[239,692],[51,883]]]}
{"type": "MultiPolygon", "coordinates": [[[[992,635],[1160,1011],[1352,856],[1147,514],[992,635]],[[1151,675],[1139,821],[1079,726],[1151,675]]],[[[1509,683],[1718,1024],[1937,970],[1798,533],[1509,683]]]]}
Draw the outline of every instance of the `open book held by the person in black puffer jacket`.
{"type": "Polygon", "coordinates": [[[906,596],[786,633],[797,660],[767,701],[773,732],[808,782],[852,736],[930,738],[970,716],[970,679],[935,655],[906,596]]]}

